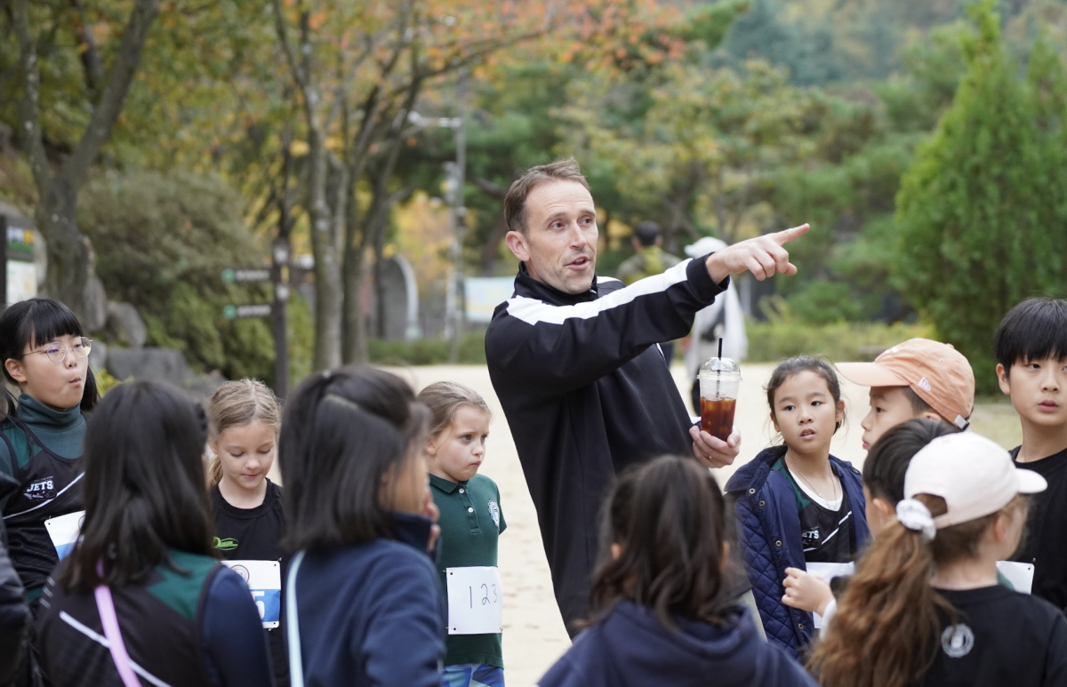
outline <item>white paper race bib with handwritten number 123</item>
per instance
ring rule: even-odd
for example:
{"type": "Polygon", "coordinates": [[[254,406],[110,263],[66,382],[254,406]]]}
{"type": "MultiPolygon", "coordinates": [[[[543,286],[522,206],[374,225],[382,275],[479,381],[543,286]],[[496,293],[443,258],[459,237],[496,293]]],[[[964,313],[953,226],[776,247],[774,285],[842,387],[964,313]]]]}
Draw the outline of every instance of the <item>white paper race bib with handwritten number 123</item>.
{"type": "Polygon", "coordinates": [[[504,587],[497,568],[448,568],[448,634],[504,632],[504,587]]]}

